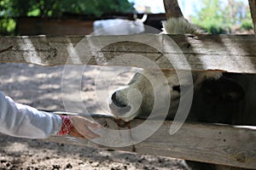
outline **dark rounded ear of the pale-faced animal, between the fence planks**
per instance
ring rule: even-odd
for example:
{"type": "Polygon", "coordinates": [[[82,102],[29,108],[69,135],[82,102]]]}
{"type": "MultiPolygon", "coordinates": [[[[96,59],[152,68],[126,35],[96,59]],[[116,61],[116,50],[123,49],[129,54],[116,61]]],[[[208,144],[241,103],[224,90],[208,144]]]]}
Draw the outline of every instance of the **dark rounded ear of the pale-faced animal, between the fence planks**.
{"type": "Polygon", "coordinates": [[[243,99],[245,95],[241,84],[226,77],[218,80],[206,79],[201,83],[201,92],[207,102],[236,102],[243,99]]]}

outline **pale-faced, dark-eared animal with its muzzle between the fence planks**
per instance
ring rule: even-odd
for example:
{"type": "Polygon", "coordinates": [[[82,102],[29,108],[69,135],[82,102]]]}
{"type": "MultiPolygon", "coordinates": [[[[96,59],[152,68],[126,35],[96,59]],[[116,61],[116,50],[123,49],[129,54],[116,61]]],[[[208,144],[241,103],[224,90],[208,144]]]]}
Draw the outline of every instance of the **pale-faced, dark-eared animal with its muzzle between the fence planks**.
{"type": "MultiPolygon", "coordinates": [[[[188,20],[180,17],[169,18],[163,21],[162,34],[201,34],[201,30],[192,24],[188,20]]],[[[138,71],[134,77],[131,78],[131,82],[123,88],[117,89],[111,96],[109,103],[110,110],[113,115],[125,122],[131,121],[135,117],[147,117],[150,115],[153,105],[155,105],[154,111],[162,112],[166,109],[166,105],[170,106],[167,118],[173,119],[176,115],[177,107],[179,105],[181,97],[181,89],[193,88],[193,84],[186,81],[186,77],[189,77],[189,71],[183,71],[182,79],[180,82],[175,71],[162,70],[159,73],[157,71],[143,70],[138,71]],[[158,75],[159,74],[159,75],[158,75]],[[160,74],[166,77],[167,83],[161,81],[160,74]],[[154,86],[157,88],[154,89],[154,86]],[[167,98],[167,93],[162,89],[170,89],[170,99],[167,98]],[[136,89],[136,92],[133,90],[136,89]],[[131,93],[133,92],[133,93],[131,93]],[[131,95],[132,94],[132,95],[131,95]],[[154,100],[155,96],[161,96],[170,103],[158,102],[154,100]],[[142,98],[140,101],[139,98],[142,98]],[[138,103],[140,104],[138,106],[138,103]]],[[[234,102],[239,101],[244,93],[241,85],[232,81],[230,78],[223,77],[222,71],[202,71],[194,72],[192,75],[194,82],[195,95],[199,94],[204,101],[222,101],[222,102],[234,102]]],[[[192,105],[192,109],[193,109],[192,105]]],[[[229,117],[225,115],[218,116],[218,120],[211,120],[205,115],[189,115],[188,121],[201,121],[201,122],[228,122],[229,117]],[[201,120],[202,119],[202,120],[201,120]]]]}

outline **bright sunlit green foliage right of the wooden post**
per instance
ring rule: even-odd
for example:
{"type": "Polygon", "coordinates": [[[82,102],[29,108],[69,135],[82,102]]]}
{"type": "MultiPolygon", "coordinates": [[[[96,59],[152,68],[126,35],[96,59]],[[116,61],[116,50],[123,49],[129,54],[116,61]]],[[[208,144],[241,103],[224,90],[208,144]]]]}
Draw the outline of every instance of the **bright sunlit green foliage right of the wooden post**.
{"type": "Polygon", "coordinates": [[[234,27],[253,28],[249,7],[235,0],[199,0],[203,8],[192,22],[212,34],[228,33],[234,27]]]}

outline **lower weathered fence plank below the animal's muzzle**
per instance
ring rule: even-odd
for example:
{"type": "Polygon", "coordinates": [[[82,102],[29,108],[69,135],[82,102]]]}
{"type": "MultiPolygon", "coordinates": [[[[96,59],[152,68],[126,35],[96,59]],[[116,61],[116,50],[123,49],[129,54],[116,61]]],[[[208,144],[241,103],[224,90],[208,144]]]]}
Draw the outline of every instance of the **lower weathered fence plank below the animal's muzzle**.
{"type": "MultiPolygon", "coordinates": [[[[112,129],[127,129],[119,127],[111,117],[94,116],[96,122],[112,129]]],[[[136,119],[130,127],[141,125],[144,120],[136,119]]],[[[155,121],[151,121],[152,124],[155,121]]],[[[171,156],[191,161],[203,161],[232,167],[256,167],[256,127],[236,127],[220,124],[184,123],[174,135],[169,134],[172,122],[164,122],[160,128],[141,143],[128,147],[109,148],[93,144],[85,139],[53,136],[49,141],[95,146],[113,150],[125,150],[139,154],[156,156],[171,156]]],[[[145,132],[147,129],[145,129],[145,132]]],[[[120,138],[131,139],[134,131],[120,138]]],[[[104,136],[111,138],[110,134],[104,136]]],[[[109,139],[114,140],[114,139],[109,139]]],[[[113,141],[114,142],[114,141],[113,141]]]]}

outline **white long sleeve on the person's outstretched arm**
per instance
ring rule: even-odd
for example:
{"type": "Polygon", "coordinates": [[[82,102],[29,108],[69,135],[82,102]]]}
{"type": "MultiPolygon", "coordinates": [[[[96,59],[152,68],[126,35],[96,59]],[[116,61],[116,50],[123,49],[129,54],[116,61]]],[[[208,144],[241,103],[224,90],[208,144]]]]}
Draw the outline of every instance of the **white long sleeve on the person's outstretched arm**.
{"type": "Polygon", "coordinates": [[[61,129],[61,116],[16,104],[0,92],[0,133],[30,139],[45,139],[61,129]]]}

